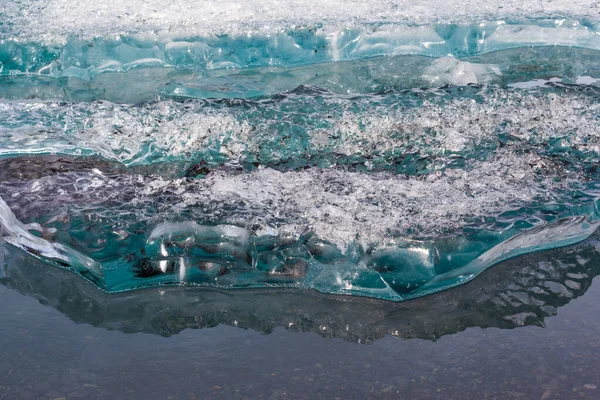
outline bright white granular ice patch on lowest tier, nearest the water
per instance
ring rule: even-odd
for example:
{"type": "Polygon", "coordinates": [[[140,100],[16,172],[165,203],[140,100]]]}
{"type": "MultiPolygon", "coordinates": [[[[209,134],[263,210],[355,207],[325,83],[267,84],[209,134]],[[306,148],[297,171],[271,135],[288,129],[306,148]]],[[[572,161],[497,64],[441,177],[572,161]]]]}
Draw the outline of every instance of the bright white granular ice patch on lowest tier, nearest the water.
{"type": "MultiPolygon", "coordinates": [[[[426,178],[320,169],[260,169],[236,176],[216,173],[198,183],[203,189],[199,193],[182,193],[183,202],[174,208],[239,199],[265,209],[267,218],[258,217],[258,224],[287,216],[290,220],[279,226],[284,232],[307,224],[340,249],[355,239],[367,248],[384,245],[390,232],[416,229],[435,235],[459,227],[464,218],[494,215],[511,204],[551,196],[542,187],[558,189],[564,183],[539,174],[540,168],[544,168],[543,160],[536,156],[504,153],[470,170],[446,170],[426,178]]],[[[155,181],[145,191],[177,190],[177,186],[176,181],[155,181]]],[[[185,185],[180,188],[184,190],[185,185]]],[[[244,220],[229,222],[247,223],[244,220]]]]}

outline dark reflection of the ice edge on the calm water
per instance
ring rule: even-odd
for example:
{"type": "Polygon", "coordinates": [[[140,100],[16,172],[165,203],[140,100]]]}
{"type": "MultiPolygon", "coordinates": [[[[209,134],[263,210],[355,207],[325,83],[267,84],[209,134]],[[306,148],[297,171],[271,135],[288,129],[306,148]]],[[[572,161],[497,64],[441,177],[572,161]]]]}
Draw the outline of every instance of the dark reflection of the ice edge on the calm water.
{"type": "Polygon", "coordinates": [[[385,335],[436,340],[475,326],[543,326],[545,317],[583,295],[600,271],[600,235],[594,234],[575,246],[505,261],[466,285],[404,303],[294,289],[165,286],[107,294],[68,271],[3,247],[0,282],[5,286],[75,322],[162,336],[226,324],[369,343],[385,335]]]}

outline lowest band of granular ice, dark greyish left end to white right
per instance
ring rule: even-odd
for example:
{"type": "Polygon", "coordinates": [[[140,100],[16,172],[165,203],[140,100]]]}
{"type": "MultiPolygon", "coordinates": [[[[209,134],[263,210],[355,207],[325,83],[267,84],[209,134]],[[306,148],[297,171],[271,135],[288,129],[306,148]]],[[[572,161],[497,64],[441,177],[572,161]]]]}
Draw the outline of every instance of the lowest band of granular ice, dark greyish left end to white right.
{"type": "Polygon", "coordinates": [[[557,181],[561,171],[553,168],[557,167],[534,154],[502,150],[468,168],[424,177],[259,168],[250,173],[214,171],[204,179],[171,180],[139,175],[115,178],[92,171],[9,184],[2,188],[2,196],[20,203],[19,199],[27,199],[26,209],[19,206],[20,213],[26,214],[53,208],[59,214],[64,212],[59,210],[62,207],[74,207],[70,212],[74,217],[79,209],[80,217],[99,218],[103,224],[121,224],[123,215],[135,215],[136,222],[152,226],[165,218],[187,215],[198,223],[258,226],[271,234],[311,227],[318,237],[340,249],[356,240],[368,248],[415,234],[440,237],[474,218],[489,217],[493,222],[505,211],[560,201],[557,196],[570,180],[557,181]],[[154,211],[157,199],[161,199],[158,214],[154,211]]]}

